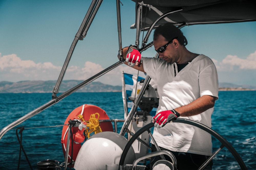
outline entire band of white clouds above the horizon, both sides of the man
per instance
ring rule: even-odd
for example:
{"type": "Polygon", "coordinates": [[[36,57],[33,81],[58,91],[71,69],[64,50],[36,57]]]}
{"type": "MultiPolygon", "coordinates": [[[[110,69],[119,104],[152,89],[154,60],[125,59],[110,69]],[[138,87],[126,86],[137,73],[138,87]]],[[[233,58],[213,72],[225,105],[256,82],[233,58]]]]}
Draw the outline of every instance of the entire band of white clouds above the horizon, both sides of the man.
{"type": "MultiPolygon", "coordinates": [[[[240,77],[238,74],[243,73],[246,70],[252,70],[252,72],[256,71],[256,51],[250,54],[246,59],[228,55],[222,61],[212,60],[217,67],[220,78],[223,76],[221,79],[224,80],[228,80],[228,78],[230,78],[228,74],[232,75],[233,71],[236,71],[237,79],[240,77]],[[228,77],[224,77],[223,73],[228,77]]],[[[35,63],[32,60],[22,60],[15,54],[1,56],[0,53],[0,81],[57,81],[61,68],[61,66],[55,66],[51,62],[35,63]]],[[[64,76],[64,80],[87,80],[104,69],[105,68],[102,68],[102,66],[97,63],[87,61],[82,68],[79,66],[69,66],[64,76]]],[[[129,74],[137,74],[137,70],[122,64],[105,75],[102,75],[95,81],[110,85],[121,85],[122,71],[129,74]]],[[[145,77],[141,72],[139,73],[139,76],[145,77]]]]}

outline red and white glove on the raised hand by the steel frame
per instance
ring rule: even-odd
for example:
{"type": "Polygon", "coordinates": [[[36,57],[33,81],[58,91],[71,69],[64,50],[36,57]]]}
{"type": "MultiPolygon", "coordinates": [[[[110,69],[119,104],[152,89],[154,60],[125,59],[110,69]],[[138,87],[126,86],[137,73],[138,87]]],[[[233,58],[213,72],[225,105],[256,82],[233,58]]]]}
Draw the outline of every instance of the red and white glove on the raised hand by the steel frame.
{"type": "Polygon", "coordinates": [[[136,46],[130,45],[126,54],[125,60],[129,66],[135,66],[135,63],[138,61],[138,64],[142,63],[141,53],[138,51],[136,46]]]}

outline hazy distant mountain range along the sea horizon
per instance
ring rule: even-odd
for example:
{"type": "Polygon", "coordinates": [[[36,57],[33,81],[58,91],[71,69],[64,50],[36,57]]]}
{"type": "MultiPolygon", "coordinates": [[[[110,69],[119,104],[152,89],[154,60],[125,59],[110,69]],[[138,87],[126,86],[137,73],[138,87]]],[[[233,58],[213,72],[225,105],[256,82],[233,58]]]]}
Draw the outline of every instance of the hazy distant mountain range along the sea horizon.
{"type": "MultiPolygon", "coordinates": [[[[60,86],[60,93],[63,93],[82,81],[64,80],[60,86]]],[[[0,82],[0,93],[52,93],[56,81],[20,81],[0,82]]],[[[91,82],[77,90],[77,92],[113,92],[121,91],[122,86],[112,86],[100,82],[91,82]]],[[[219,83],[219,90],[256,90],[256,86],[235,85],[232,83],[219,83]]]]}

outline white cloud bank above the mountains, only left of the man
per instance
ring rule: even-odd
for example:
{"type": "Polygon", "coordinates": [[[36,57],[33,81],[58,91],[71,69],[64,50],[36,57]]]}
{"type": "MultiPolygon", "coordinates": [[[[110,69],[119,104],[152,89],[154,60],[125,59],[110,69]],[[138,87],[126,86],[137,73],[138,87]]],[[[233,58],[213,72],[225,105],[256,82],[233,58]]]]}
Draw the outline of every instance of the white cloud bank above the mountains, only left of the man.
{"type": "MultiPolygon", "coordinates": [[[[18,82],[24,80],[56,80],[61,71],[60,66],[54,66],[51,62],[35,63],[32,60],[22,60],[16,54],[1,56],[0,53],[0,81],[18,82]]],[[[101,65],[87,61],[84,67],[68,66],[64,80],[87,80],[104,70],[101,65]]],[[[121,85],[122,71],[129,74],[137,74],[125,64],[109,71],[95,81],[104,84],[121,85]]]]}

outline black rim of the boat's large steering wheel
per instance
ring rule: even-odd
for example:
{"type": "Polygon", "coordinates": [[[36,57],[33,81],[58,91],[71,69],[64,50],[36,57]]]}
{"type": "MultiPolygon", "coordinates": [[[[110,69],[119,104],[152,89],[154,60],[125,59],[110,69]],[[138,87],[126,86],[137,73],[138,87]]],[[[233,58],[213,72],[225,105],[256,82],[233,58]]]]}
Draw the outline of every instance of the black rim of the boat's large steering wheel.
{"type": "MultiPolygon", "coordinates": [[[[173,123],[185,123],[185,124],[189,124],[189,125],[193,125],[196,126],[202,130],[204,130],[205,132],[211,134],[212,136],[214,136],[216,139],[218,139],[221,142],[221,146],[219,147],[219,149],[217,149],[211,156],[210,158],[213,159],[217,153],[223,149],[224,147],[226,147],[234,156],[234,158],[236,159],[236,161],[238,162],[239,166],[241,167],[242,170],[247,170],[246,165],[244,164],[242,158],[240,157],[240,155],[237,153],[237,151],[232,147],[232,145],[225,139],[223,138],[221,135],[219,135],[217,132],[215,132],[214,130],[212,130],[211,128],[198,123],[196,121],[192,121],[189,119],[182,119],[182,118],[177,118],[176,120],[173,121],[173,123]]],[[[127,142],[123,153],[121,155],[120,158],[120,162],[119,165],[123,165],[124,164],[124,160],[126,158],[127,152],[130,149],[130,147],[132,146],[132,143],[144,132],[148,131],[148,133],[151,133],[150,128],[152,128],[154,126],[154,123],[149,123],[145,126],[143,126],[141,129],[139,129],[132,137],[131,139],[127,142]]],[[[209,159],[210,159],[209,158],[209,159]]],[[[205,163],[204,163],[205,164],[205,163]]],[[[205,164],[204,166],[201,165],[202,168],[204,168],[207,164],[205,164]]],[[[199,168],[199,169],[202,169],[199,168]]]]}

